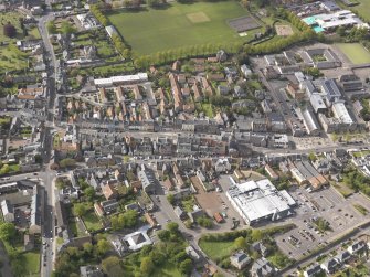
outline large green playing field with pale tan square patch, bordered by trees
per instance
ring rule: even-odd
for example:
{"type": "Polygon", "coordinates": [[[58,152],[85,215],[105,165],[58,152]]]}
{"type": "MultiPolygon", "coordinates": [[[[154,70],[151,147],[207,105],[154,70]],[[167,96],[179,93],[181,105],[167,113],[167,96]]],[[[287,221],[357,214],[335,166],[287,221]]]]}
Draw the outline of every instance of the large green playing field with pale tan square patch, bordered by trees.
{"type": "Polygon", "coordinates": [[[140,54],[208,43],[241,42],[254,38],[258,29],[241,38],[228,19],[247,15],[237,2],[171,3],[166,9],[119,11],[108,15],[121,36],[140,54]]]}

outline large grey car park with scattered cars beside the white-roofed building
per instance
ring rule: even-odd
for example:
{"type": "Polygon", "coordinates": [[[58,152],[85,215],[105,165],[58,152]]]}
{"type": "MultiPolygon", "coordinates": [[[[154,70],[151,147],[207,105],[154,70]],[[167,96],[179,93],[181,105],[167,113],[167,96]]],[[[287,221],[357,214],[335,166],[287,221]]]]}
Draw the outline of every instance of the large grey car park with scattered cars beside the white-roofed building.
{"type": "Polygon", "coordinates": [[[290,191],[290,194],[297,201],[298,206],[296,215],[286,221],[295,223],[297,228],[275,239],[279,248],[295,259],[306,256],[319,245],[338,238],[368,220],[353,207],[353,204],[360,204],[370,211],[370,202],[361,194],[343,199],[331,187],[311,193],[298,188],[290,191]],[[313,222],[319,217],[329,223],[331,231],[319,232],[313,222]]]}

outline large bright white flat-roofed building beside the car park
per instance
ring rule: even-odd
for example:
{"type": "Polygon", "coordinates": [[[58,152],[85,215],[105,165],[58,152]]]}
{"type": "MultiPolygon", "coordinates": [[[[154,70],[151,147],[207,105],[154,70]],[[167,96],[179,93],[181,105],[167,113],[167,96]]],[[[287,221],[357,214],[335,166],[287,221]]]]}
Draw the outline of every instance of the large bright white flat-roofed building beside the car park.
{"type": "Polygon", "coordinates": [[[268,179],[235,183],[226,196],[250,225],[261,221],[277,221],[293,214],[295,200],[286,191],[277,191],[268,179]]]}

